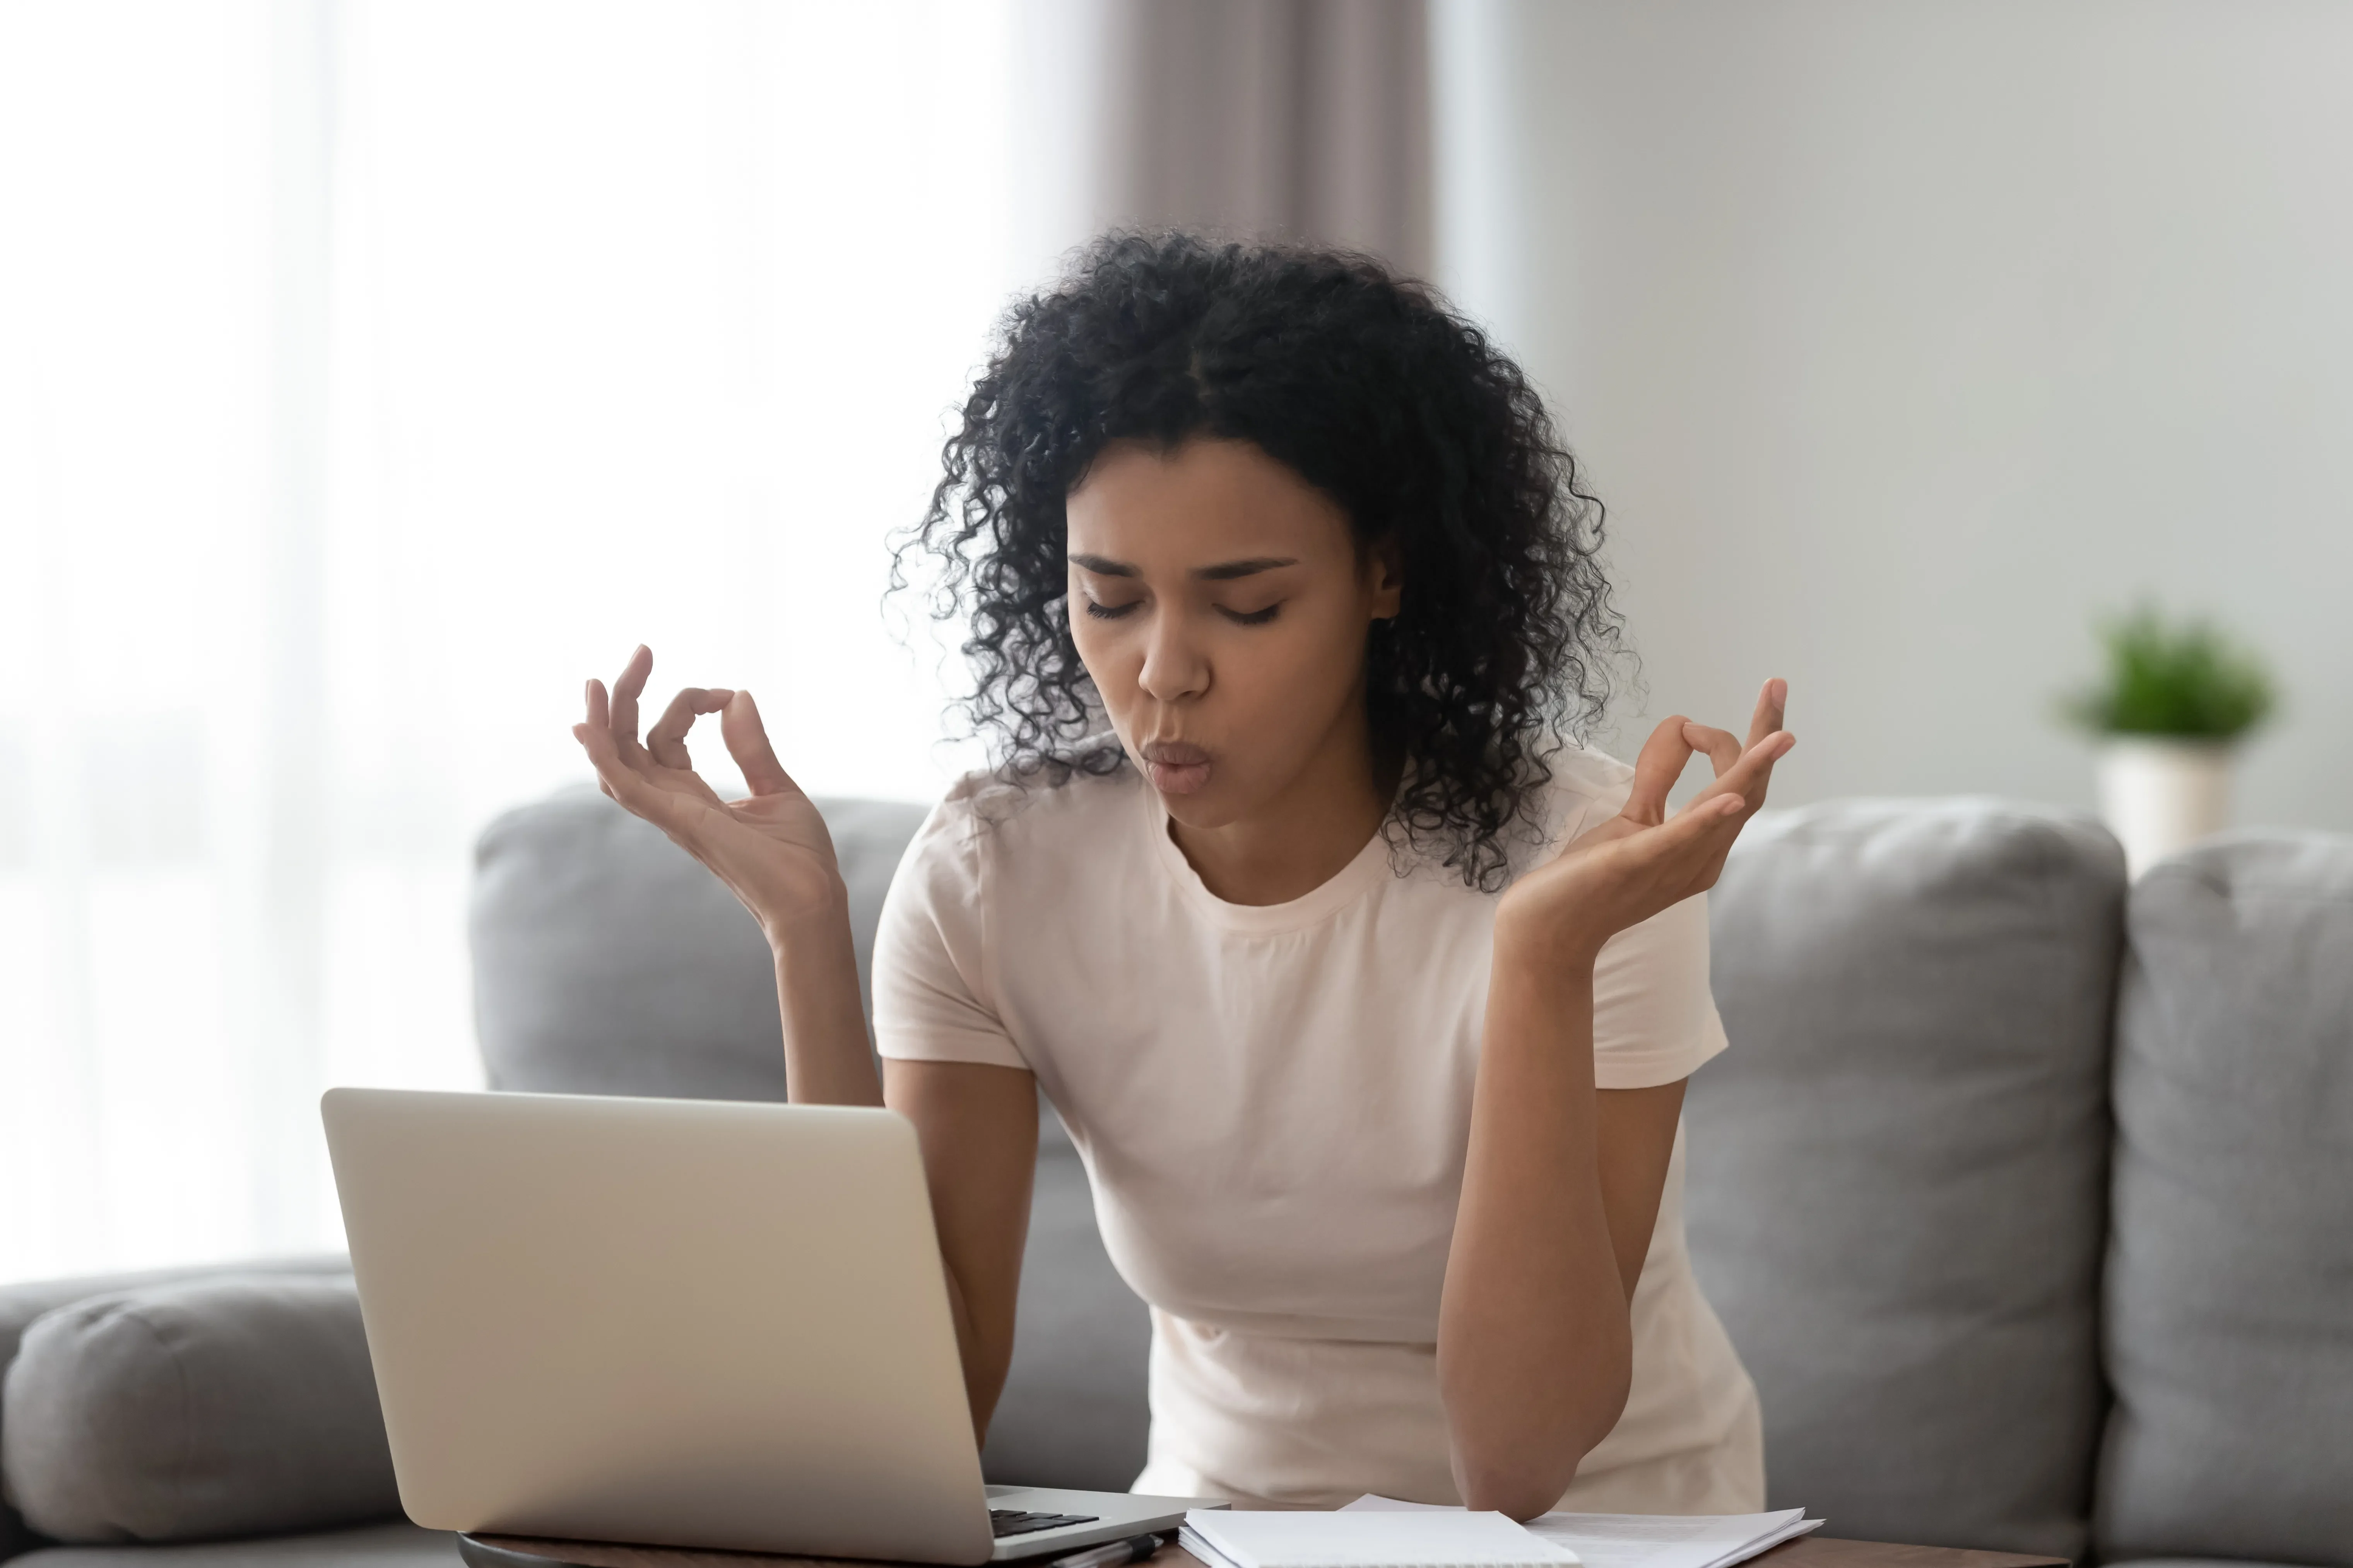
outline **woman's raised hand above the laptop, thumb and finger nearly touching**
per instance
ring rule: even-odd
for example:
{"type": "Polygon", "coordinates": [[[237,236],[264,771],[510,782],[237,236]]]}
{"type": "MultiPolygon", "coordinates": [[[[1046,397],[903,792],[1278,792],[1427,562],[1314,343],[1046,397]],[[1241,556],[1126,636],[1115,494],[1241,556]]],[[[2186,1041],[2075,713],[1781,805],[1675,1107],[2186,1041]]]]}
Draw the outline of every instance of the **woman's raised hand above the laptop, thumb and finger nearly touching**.
{"type": "Polygon", "coordinates": [[[612,684],[612,698],[605,696],[605,682],[588,682],[588,722],[574,724],[572,736],[595,764],[605,795],[708,865],[760,922],[769,947],[781,952],[812,922],[842,919],[847,893],[833,858],[833,835],[776,762],[751,691],[687,686],[671,698],[640,745],[638,698],[652,672],[654,654],[640,646],[612,684]],[[687,757],[687,731],[706,712],[720,715],[720,736],[744,769],[748,799],[720,799],[687,757]]]}

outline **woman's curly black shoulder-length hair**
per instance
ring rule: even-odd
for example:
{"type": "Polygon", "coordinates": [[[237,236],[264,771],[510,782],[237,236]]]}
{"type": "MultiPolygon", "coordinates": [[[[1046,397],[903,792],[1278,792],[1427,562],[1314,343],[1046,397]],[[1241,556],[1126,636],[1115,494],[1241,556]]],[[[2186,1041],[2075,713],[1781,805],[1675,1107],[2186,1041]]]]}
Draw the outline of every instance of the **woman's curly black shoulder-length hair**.
{"type": "Polygon", "coordinates": [[[1391,837],[1494,889],[1562,736],[1600,719],[1621,621],[1602,505],[1544,400],[1428,287],[1355,254],[1118,233],[1002,317],[932,508],[894,548],[969,618],[1000,776],[1064,783],[1101,703],[1071,642],[1064,498],[1106,442],[1245,440],[1329,496],[1358,548],[1395,541],[1402,609],[1365,649],[1369,717],[1405,769],[1391,837]]]}

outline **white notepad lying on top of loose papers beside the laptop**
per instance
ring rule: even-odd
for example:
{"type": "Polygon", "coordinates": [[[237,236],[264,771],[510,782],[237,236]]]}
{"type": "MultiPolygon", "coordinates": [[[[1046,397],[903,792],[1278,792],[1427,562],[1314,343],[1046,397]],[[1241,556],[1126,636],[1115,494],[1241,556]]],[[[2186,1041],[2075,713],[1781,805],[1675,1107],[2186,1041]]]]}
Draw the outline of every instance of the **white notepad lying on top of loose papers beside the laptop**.
{"type": "Polygon", "coordinates": [[[1176,1542],[1207,1568],[1565,1568],[1577,1554],[1501,1514],[1193,1509],[1176,1542]]]}

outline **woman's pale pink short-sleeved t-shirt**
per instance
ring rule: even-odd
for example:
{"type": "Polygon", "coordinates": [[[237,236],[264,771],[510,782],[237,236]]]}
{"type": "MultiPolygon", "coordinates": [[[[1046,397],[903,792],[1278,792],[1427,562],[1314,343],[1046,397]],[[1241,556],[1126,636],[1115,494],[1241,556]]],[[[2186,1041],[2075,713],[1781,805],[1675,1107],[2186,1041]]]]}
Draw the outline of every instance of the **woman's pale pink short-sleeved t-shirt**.
{"type": "MultiPolygon", "coordinates": [[[[1562,752],[1546,837],[1624,806],[1631,769],[1562,752]]],[[[1525,863],[1525,858],[1522,858],[1525,863]]],[[[1337,1507],[1459,1502],[1438,1401],[1494,938],[1494,893],[1384,837],[1280,905],[1202,886],[1134,773],[1012,792],[972,776],[882,905],[885,1056],[1038,1074],[1153,1309],[1136,1490],[1337,1507]]],[[[1725,1044],[1701,898],[1595,969],[1602,1088],[1689,1077],[1725,1044]]],[[[1765,1507],[1755,1389],[1692,1281],[1682,1138],[1633,1300],[1633,1394],[1562,1507],[1765,1507]]]]}

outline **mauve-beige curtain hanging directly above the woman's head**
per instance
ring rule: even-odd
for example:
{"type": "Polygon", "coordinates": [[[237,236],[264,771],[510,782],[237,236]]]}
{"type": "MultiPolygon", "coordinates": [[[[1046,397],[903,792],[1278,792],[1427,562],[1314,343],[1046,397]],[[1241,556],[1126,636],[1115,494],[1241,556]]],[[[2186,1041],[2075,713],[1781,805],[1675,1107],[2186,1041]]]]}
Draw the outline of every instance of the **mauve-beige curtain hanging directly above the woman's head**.
{"type": "Polygon", "coordinates": [[[1428,273],[1426,0],[1031,0],[1016,49],[1064,242],[1200,226],[1428,273]]]}

